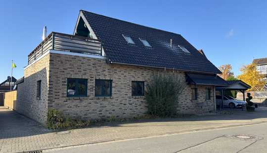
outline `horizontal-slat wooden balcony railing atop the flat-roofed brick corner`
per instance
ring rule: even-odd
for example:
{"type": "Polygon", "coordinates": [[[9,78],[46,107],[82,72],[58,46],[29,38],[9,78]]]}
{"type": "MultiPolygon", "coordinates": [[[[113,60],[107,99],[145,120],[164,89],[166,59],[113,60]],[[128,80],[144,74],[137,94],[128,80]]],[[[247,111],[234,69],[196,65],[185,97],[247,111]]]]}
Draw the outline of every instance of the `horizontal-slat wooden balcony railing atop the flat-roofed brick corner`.
{"type": "Polygon", "coordinates": [[[98,39],[52,32],[28,55],[28,64],[48,50],[102,55],[102,43],[98,39]]]}

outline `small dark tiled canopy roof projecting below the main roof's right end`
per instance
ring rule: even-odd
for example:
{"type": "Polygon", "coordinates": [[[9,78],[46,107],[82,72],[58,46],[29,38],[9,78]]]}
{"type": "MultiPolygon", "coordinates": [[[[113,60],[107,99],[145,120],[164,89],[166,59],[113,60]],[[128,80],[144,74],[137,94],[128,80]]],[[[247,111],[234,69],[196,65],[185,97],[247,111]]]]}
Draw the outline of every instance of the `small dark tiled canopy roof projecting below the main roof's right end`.
{"type": "Polygon", "coordinates": [[[228,86],[223,78],[217,75],[186,73],[186,81],[193,85],[228,86]]]}

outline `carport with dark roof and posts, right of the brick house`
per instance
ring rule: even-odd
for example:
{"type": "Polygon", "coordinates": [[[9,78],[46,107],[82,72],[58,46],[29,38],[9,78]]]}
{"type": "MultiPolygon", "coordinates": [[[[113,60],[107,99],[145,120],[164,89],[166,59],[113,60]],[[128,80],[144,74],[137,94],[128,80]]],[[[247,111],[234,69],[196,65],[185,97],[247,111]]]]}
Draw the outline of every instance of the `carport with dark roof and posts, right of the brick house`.
{"type": "Polygon", "coordinates": [[[228,83],[228,86],[216,87],[216,91],[220,91],[222,93],[222,104],[220,105],[220,109],[223,108],[223,97],[224,97],[224,92],[226,90],[240,91],[241,93],[243,93],[243,101],[245,101],[245,91],[251,88],[250,85],[243,82],[242,80],[231,80],[231,81],[227,81],[227,83],[228,83]]]}

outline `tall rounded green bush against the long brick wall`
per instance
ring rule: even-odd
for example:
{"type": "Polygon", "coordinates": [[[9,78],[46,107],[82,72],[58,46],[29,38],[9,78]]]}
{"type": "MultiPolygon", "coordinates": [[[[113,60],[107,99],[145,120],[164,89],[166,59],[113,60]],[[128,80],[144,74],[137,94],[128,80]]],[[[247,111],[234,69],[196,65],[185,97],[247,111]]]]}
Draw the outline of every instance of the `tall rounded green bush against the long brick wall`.
{"type": "Polygon", "coordinates": [[[160,117],[177,113],[178,97],[185,83],[177,75],[154,75],[146,88],[148,114],[160,117]]]}

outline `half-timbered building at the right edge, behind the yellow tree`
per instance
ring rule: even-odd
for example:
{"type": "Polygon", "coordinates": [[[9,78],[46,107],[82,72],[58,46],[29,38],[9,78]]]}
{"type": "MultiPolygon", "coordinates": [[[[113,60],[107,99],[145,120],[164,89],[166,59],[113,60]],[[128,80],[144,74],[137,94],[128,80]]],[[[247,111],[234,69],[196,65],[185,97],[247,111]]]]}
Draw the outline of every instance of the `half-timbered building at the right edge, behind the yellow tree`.
{"type": "Polygon", "coordinates": [[[257,71],[264,76],[264,81],[267,83],[267,58],[254,59],[257,71]]]}

